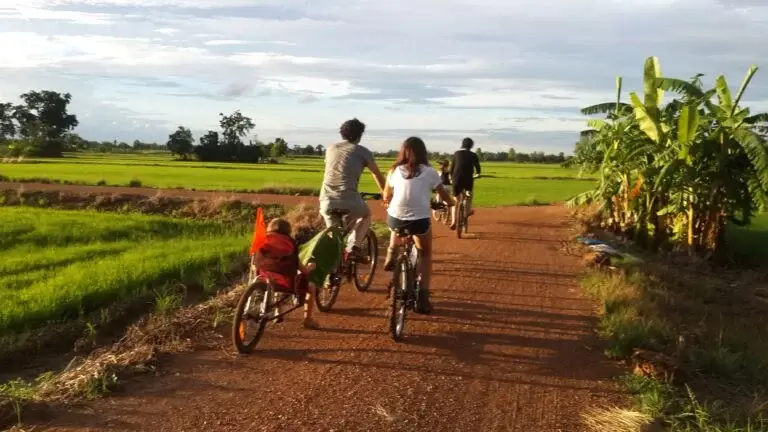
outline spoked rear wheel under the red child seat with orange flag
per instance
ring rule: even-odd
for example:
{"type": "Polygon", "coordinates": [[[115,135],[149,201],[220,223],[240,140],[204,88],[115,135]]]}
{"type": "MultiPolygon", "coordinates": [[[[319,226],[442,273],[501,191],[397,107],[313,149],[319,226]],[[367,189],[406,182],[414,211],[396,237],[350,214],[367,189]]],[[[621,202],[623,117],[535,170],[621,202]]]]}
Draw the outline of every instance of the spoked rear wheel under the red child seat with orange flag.
{"type": "Polygon", "coordinates": [[[264,334],[270,306],[268,293],[267,283],[256,279],[250,282],[237,302],[232,321],[232,343],[240,354],[251,353],[264,334]]]}

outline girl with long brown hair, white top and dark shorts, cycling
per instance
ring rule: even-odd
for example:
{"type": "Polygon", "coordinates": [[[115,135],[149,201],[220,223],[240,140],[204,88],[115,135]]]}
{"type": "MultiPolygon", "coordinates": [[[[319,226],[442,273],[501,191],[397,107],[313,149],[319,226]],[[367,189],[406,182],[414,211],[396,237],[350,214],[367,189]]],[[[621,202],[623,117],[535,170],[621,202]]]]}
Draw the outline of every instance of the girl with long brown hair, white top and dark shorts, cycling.
{"type": "Polygon", "coordinates": [[[429,166],[427,148],[418,137],[410,137],[403,142],[397,161],[387,175],[383,199],[388,205],[387,225],[393,230],[387,250],[384,270],[394,267],[397,236],[395,229],[408,228],[413,234],[416,247],[421,250],[421,288],[424,303],[421,309],[429,312],[429,282],[432,273],[432,230],[431,206],[432,193],[437,192],[447,203],[453,199],[443,188],[440,175],[429,166]]]}

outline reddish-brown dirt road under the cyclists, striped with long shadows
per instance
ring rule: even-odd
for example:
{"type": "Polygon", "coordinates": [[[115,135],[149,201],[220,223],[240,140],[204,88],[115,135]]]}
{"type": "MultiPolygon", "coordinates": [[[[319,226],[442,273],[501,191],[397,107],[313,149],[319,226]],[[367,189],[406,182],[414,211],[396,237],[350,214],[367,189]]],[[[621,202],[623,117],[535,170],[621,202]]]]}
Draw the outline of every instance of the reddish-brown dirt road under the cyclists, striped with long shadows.
{"type": "Polygon", "coordinates": [[[302,329],[296,313],[267,327],[250,356],[222,339],[163,359],[159,376],[128,381],[121,395],[33,426],[571,432],[588,407],[622,403],[577,259],[559,250],[565,210],[479,209],[470,228],[463,240],[435,228],[435,310],[409,315],[402,343],[387,333],[380,270],[369,293],[342,288],[334,310],[318,314],[321,330],[302,329]]]}

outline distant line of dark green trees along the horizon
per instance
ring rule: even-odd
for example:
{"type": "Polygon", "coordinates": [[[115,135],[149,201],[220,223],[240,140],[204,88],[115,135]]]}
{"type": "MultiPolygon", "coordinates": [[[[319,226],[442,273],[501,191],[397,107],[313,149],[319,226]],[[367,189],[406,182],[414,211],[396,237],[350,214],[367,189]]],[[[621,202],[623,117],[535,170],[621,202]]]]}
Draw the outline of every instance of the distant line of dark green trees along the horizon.
{"type": "MultiPolygon", "coordinates": [[[[0,154],[9,156],[61,157],[64,152],[92,151],[120,153],[135,151],[168,151],[183,160],[197,159],[215,162],[276,162],[284,156],[322,156],[323,145],[289,146],[277,137],[262,142],[250,136],[255,128],[253,120],[239,110],[225,115],[219,113],[219,130],[206,131],[196,141],[192,131],[179,126],[169,134],[165,143],[135,140],[132,144],[118,141],[91,141],[73,130],[78,126],[77,116],[68,112],[72,96],[50,90],[32,90],[20,95],[20,104],[0,102],[0,154]]],[[[563,163],[568,160],[562,152],[523,153],[508,151],[485,152],[476,149],[482,161],[510,161],[532,163],[563,163]]],[[[377,152],[377,156],[395,157],[397,150],[377,152]]],[[[449,158],[449,153],[431,153],[432,159],[449,158]]]]}

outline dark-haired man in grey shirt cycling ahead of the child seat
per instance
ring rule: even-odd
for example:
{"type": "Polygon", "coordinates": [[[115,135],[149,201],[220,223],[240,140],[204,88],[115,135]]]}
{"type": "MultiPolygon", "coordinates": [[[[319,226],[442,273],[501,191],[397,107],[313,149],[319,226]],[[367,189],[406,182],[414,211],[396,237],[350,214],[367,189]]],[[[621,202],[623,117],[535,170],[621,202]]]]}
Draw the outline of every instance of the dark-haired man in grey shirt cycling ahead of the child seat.
{"type": "Polygon", "coordinates": [[[371,209],[357,190],[363,170],[368,168],[379,191],[384,189],[384,176],[373,159],[373,153],[360,145],[364,132],[365,124],[356,118],[341,125],[339,133],[344,141],[331,144],[326,149],[325,173],[320,189],[320,214],[326,226],[333,224],[329,214],[331,210],[346,210],[355,221],[346,249],[354,258],[360,257],[360,247],[371,226],[371,209]]]}

